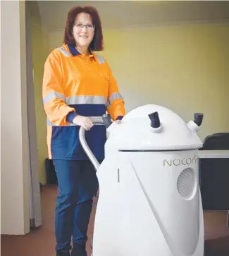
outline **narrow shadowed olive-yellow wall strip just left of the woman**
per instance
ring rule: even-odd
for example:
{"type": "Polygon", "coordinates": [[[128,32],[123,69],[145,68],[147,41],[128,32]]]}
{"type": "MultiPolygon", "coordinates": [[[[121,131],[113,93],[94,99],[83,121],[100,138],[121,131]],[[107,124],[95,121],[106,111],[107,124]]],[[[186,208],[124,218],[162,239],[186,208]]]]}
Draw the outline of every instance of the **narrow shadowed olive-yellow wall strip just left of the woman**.
{"type": "Polygon", "coordinates": [[[44,159],[47,158],[47,126],[46,115],[42,103],[42,78],[44,62],[49,55],[48,32],[42,27],[37,1],[27,1],[30,18],[30,35],[32,44],[32,68],[34,75],[35,115],[37,124],[37,154],[39,164],[39,180],[46,183],[44,159]]]}

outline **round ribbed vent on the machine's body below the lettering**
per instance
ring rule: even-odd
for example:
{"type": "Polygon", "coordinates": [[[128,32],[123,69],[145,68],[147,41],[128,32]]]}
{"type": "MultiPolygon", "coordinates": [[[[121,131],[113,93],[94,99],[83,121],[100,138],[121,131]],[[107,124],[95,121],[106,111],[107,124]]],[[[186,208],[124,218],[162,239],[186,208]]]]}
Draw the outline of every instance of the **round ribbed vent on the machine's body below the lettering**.
{"type": "Polygon", "coordinates": [[[178,181],[177,181],[178,193],[185,200],[189,200],[194,193],[195,184],[196,184],[196,178],[194,175],[194,170],[192,168],[187,168],[183,170],[178,176],[178,181]]]}

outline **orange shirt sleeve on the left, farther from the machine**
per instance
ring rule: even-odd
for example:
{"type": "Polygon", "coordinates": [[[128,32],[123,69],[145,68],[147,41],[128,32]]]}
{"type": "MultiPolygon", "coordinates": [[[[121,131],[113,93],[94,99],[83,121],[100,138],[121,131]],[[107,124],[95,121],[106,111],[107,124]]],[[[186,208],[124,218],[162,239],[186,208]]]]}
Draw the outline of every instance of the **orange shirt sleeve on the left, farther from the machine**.
{"type": "Polygon", "coordinates": [[[61,58],[53,51],[44,63],[42,95],[47,118],[56,126],[68,125],[77,115],[75,109],[65,102],[62,83],[61,58]]]}

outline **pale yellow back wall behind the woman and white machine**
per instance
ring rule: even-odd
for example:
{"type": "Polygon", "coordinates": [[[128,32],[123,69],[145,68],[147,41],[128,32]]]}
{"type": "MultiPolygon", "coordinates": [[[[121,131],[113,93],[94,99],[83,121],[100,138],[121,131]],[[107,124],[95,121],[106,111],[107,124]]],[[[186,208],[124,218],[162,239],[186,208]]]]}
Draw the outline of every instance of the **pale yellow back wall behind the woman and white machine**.
{"type": "MultiPolygon", "coordinates": [[[[63,31],[49,33],[49,52],[62,42],[63,31]]],[[[229,131],[228,24],[136,25],[104,31],[104,42],[105,51],[100,54],[109,61],[127,111],[160,104],[185,121],[193,119],[194,112],[203,112],[202,140],[211,133],[229,131]]],[[[38,93],[40,83],[35,86],[38,93]]],[[[36,97],[38,106],[40,92],[36,97]]],[[[39,150],[47,154],[44,118],[43,111],[37,111],[39,150]]]]}

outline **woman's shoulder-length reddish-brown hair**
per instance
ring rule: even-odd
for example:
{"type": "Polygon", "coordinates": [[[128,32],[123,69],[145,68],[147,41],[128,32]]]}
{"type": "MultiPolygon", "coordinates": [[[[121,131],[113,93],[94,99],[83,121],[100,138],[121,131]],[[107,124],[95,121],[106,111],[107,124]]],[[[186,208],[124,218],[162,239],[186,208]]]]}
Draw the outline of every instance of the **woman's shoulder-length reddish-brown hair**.
{"type": "Polygon", "coordinates": [[[69,44],[75,47],[75,39],[73,37],[73,25],[75,23],[75,17],[79,13],[87,13],[92,18],[92,23],[94,24],[94,38],[89,45],[90,51],[102,51],[104,49],[103,33],[101,28],[101,20],[99,13],[96,8],[92,6],[75,6],[68,11],[68,18],[66,21],[66,28],[64,30],[63,43],[69,44]]]}

